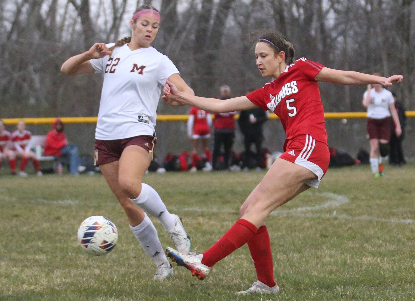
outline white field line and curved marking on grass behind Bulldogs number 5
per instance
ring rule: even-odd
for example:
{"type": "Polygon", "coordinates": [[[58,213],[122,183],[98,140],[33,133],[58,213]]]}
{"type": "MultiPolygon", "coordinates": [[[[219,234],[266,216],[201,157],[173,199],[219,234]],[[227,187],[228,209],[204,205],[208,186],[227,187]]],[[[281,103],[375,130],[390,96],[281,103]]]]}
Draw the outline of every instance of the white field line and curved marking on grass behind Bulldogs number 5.
{"type": "MultiPolygon", "coordinates": [[[[293,208],[288,210],[277,210],[271,212],[270,215],[292,215],[298,217],[308,217],[308,218],[339,218],[339,219],[349,219],[355,221],[381,221],[381,222],[388,222],[388,223],[415,223],[413,219],[398,219],[398,218],[378,218],[373,216],[349,216],[346,214],[336,214],[336,211],[333,214],[312,214],[312,213],[300,213],[303,211],[313,211],[313,210],[320,210],[326,209],[330,207],[337,207],[343,204],[348,203],[350,200],[345,197],[344,195],[338,195],[331,192],[323,192],[316,194],[321,195],[322,197],[330,198],[329,201],[326,201],[324,204],[316,205],[316,206],[305,206],[299,208],[293,208]]],[[[171,207],[171,210],[174,211],[190,211],[190,212],[211,212],[211,213],[231,213],[231,214],[239,214],[237,210],[230,210],[230,209],[203,209],[203,208],[174,208],[171,207]]]]}

